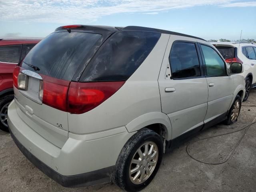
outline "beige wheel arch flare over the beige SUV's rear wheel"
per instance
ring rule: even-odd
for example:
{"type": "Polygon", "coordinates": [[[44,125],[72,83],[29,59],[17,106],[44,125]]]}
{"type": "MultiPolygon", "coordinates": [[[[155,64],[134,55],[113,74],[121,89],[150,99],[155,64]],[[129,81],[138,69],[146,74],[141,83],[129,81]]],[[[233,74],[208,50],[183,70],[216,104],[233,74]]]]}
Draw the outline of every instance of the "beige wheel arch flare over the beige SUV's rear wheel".
{"type": "Polygon", "coordinates": [[[170,119],[162,112],[144,114],[126,125],[128,132],[135,132],[145,127],[162,135],[166,140],[172,138],[170,119]]]}

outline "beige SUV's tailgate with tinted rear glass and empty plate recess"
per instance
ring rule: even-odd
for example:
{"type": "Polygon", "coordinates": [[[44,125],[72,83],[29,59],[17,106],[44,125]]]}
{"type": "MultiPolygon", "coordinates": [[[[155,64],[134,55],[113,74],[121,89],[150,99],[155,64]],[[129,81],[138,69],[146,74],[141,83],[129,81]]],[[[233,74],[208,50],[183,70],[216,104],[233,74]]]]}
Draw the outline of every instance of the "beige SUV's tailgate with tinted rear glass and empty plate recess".
{"type": "Polygon", "coordinates": [[[68,86],[100,39],[100,34],[55,32],[36,44],[20,64],[27,81],[25,90],[14,87],[17,112],[28,126],[60,148],[68,139],[68,86]]]}

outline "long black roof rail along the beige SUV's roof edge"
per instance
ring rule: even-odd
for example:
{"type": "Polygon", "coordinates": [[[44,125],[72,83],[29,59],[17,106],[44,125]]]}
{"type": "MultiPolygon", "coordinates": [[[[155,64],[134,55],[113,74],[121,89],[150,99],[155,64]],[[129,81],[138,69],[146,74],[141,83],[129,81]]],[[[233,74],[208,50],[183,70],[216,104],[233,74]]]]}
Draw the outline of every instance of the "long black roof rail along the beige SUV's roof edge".
{"type": "Polygon", "coordinates": [[[200,40],[206,41],[206,40],[204,40],[202,38],[191,36],[191,35],[186,35],[186,34],[177,33],[177,32],[168,31],[168,30],[149,28],[149,27],[127,26],[125,28],[122,28],[122,30],[140,30],[140,31],[160,32],[160,33],[171,34],[171,35],[179,35],[179,36],[191,37],[191,38],[196,38],[196,39],[200,39],[200,40]]]}

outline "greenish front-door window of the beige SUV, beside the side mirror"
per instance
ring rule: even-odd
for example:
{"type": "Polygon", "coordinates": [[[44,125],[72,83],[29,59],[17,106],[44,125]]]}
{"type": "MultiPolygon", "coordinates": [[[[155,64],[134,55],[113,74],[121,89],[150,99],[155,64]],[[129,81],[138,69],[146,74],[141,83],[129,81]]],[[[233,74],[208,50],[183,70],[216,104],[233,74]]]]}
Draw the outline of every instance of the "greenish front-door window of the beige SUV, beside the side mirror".
{"type": "Polygon", "coordinates": [[[211,47],[201,45],[207,76],[225,76],[226,65],[219,54],[211,47]]]}

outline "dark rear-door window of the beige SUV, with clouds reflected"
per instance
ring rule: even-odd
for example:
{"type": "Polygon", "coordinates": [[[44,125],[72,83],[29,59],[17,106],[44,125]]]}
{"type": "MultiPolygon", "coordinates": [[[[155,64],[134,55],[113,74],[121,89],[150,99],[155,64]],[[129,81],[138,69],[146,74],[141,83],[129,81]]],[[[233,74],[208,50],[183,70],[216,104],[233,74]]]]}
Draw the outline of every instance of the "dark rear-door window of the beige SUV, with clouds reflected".
{"type": "Polygon", "coordinates": [[[201,76],[196,44],[176,42],[169,56],[172,78],[201,76]]]}

